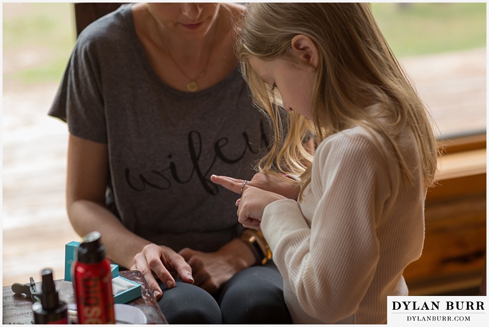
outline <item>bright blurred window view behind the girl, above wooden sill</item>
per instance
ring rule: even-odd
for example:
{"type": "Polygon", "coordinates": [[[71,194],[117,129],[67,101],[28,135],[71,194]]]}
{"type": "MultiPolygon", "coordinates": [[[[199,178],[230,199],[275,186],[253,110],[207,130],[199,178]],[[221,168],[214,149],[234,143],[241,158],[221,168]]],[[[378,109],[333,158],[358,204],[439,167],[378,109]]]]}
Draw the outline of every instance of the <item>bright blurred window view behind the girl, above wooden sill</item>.
{"type": "Polygon", "coordinates": [[[439,128],[438,138],[485,134],[486,4],[370,6],[431,111],[439,128]]]}

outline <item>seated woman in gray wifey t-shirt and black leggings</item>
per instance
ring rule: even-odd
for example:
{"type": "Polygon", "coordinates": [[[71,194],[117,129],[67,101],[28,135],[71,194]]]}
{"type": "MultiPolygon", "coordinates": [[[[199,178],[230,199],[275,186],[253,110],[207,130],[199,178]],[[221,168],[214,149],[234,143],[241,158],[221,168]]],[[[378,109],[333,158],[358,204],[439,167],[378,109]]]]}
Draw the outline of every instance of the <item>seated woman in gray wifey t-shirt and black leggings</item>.
{"type": "Polygon", "coordinates": [[[263,242],[209,180],[251,176],[266,145],[233,52],[243,10],[122,6],[79,35],[49,112],[69,126],[73,228],[140,270],[170,323],[290,322],[275,265],[253,266],[263,242]]]}

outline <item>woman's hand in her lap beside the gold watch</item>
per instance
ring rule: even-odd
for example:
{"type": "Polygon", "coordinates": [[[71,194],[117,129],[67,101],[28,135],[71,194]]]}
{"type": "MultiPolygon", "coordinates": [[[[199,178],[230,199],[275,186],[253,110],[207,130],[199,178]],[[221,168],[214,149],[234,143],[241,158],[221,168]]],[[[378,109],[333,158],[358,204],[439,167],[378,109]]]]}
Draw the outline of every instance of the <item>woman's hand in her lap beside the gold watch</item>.
{"type": "Polygon", "coordinates": [[[215,293],[236,273],[255,262],[248,246],[233,240],[216,252],[204,253],[189,248],[178,252],[192,267],[195,285],[215,293]],[[248,254],[248,257],[246,256],[248,254]]]}

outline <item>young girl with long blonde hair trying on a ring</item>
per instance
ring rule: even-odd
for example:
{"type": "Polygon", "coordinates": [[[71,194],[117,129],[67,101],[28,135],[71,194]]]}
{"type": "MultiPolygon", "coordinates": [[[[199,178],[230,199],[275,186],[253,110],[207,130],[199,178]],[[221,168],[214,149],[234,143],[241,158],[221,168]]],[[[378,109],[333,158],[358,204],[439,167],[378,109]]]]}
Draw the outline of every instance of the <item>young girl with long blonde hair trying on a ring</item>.
{"type": "Polygon", "coordinates": [[[242,194],[238,221],[263,232],[294,323],[386,323],[423,248],[426,109],[367,4],[254,3],[241,24],[242,73],[277,141],[250,182],[212,181],[242,194]]]}

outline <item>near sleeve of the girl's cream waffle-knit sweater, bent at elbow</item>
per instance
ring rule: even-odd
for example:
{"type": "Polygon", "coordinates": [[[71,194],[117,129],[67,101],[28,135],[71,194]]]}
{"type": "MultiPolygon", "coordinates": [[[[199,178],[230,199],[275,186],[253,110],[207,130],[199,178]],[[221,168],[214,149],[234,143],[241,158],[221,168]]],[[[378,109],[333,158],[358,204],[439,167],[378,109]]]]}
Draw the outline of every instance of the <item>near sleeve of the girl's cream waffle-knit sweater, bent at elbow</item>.
{"type": "Polygon", "coordinates": [[[302,309],[334,323],[357,311],[373,279],[389,181],[377,143],[361,134],[323,141],[312,169],[301,204],[311,227],[297,202],[282,200],[266,207],[261,228],[302,309]]]}

